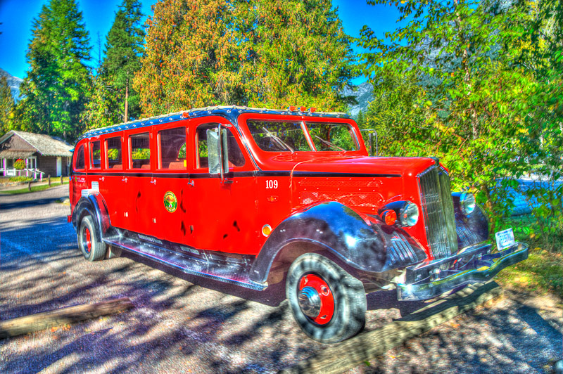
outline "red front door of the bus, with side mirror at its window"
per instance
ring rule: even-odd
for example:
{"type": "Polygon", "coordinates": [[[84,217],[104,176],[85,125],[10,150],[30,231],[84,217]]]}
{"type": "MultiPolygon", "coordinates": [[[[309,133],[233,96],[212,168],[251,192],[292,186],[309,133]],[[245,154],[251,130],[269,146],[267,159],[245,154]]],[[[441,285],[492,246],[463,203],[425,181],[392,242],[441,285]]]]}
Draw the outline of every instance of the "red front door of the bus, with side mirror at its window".
{"type": "Polygon", "coordinates": [[[236,129],[222,117],[192,119],[189,142],[193,144],[189,188],[191,204],[186,212],[189,243],[203,250],[248,253],[255,227],[254,167],[236,129]],[[229,172],[210,173],[208,130],[226,129],[229,172]]]}

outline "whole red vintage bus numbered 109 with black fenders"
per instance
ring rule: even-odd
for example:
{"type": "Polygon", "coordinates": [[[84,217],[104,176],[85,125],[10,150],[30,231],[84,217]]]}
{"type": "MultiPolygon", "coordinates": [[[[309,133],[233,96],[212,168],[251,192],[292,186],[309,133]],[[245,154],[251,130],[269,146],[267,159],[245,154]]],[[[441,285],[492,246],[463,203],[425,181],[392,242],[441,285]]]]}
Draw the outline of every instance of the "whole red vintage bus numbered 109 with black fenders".
{"type": "MultiPolygon", "coordinates": [[[[265,290],[303,331],[355,335],[366,292],[429,299],[526,259],[488,241],[471,193],[431,157],[369,157],[343,113],[220,106],[94,129],[72,157],[71,215],[90,261],[122,250],[265,290]]],[[[500,244],[499,244],[500,243],[500,244]]]]}

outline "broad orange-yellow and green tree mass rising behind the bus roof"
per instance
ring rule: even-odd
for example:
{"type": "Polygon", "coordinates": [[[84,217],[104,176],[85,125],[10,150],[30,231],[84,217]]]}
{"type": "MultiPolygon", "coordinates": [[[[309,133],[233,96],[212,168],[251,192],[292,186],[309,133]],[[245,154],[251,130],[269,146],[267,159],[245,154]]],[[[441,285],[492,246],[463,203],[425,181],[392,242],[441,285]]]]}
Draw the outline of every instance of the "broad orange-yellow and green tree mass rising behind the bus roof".
{"type": "Polygon", "coordinates": [[[348,37],[329,0],[163,0],[134,86],[144,112],[205,105],[346,110],[348,37]]]}

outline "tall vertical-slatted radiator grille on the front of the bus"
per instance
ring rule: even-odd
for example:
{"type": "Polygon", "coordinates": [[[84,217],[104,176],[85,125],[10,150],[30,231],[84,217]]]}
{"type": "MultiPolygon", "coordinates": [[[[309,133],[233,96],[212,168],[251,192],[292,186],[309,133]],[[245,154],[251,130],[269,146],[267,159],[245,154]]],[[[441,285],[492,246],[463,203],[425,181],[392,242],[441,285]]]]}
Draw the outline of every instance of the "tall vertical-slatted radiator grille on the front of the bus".
{"type": "Polygon", "coordinates": [[[419,187],[430,250],[436,259],[449,257],[457,250],[450,176],[434,165],[419,174],[419,187]]]}

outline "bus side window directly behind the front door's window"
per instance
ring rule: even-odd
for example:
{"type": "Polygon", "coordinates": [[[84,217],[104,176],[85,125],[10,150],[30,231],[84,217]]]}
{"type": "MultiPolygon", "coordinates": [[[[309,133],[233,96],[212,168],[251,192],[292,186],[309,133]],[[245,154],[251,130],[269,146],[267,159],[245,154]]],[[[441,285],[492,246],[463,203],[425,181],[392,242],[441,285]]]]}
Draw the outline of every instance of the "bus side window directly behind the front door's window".
{"type": "Polygon", "coordinates": [[[186,128],[158,131],[160,169],[186,169],[186,128]]]}

